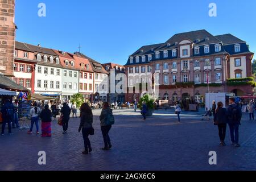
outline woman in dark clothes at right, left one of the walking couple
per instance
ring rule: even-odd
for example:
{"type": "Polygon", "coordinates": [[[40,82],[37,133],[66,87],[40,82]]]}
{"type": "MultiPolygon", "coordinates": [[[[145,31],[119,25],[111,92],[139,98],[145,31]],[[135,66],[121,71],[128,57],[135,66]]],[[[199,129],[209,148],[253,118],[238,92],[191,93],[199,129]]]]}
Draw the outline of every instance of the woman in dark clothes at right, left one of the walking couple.
{"type": "Polygon", "coordinates": [[[216,109],[216,119],[214,120],[214,125],[218,126],[218,136],[220,137],[220,145],[225,146],[226,137],[226,123],[228,121],[227,111],[223,107],[222,102],[218,102],[216,109]]]}

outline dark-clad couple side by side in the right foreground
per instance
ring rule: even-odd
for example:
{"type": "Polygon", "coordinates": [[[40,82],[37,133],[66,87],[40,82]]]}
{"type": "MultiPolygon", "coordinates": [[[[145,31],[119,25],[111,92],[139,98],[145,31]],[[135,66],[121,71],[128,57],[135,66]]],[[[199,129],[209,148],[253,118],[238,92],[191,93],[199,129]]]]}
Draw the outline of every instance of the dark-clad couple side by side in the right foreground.
{"type": "MultiPolygon", "coordinates": [[[[216,107],[213,101],[213,108],[216,107]]],[[[217,109],[213,112],[214,125],[218,126],[218,134],[220,137],[220,145],[225,146],[226,126],[229,125],[230,138],[233,146],[240,147],[239,142],[239,127],[241,125],[242,110],[239,105],[235,103],[234,98],[229,98],[229,106],[224,108],[222,102],[217,103],[217,109]]]]}

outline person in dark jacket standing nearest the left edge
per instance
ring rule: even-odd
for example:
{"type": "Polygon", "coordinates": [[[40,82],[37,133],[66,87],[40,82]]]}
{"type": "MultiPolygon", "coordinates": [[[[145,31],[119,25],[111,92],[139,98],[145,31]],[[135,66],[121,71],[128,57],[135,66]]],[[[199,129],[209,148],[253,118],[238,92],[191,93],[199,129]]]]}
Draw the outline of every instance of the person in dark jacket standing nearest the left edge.
{"type": "Polygon", "coordinates": [[[5,101],[5,104],[1,109],[1,113],[3,118],[2,135],[5,134],[6,123],[8,123],[9,135],[13,134],[11,133],[11,122],[13,121],[13,116],[14,116],[14,105],[11,104],[9,99],[5,101]]]}

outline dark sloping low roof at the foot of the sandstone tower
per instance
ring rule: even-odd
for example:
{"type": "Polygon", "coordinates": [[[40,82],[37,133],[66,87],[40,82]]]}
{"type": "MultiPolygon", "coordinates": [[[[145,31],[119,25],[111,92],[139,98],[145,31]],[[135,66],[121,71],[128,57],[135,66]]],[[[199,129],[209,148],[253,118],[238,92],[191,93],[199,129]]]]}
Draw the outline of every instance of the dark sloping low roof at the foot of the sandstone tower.
{"type": "Polygon", "coordinates": [[[0,74],[0,88],[18,91],[29,91],[27,88],[16,84],[13,80],[10,80],[10,78],[3,76],[2,74],[0,74]]]}

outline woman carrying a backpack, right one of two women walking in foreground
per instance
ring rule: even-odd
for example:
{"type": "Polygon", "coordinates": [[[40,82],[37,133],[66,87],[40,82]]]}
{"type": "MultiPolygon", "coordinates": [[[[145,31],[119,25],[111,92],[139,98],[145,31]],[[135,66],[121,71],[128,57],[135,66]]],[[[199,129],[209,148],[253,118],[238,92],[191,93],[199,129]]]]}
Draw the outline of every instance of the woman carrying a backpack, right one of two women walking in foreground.
{"type": "Polygon", "coordinates": [[[113,110],[110,109],[108,102],[104,102],[100,115],[101,132],[104,139],[104,148],[102,150],[110,150],[112,144],[110,142],[109,131],[114,124],[113,110]]]}

